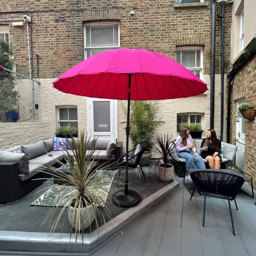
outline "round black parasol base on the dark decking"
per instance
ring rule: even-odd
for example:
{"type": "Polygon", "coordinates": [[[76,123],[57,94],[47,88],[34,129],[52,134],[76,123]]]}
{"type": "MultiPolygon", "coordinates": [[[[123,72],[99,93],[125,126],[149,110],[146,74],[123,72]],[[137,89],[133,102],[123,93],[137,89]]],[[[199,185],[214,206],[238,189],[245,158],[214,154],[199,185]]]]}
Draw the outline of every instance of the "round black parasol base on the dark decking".
{"type": "Polygon", "coordinates": [[[115,192],[112,196],[112,202],[118,207],[130,208],[139,204],[140,195],[134,190],[129,190],[127,195],[125,195],[125,189],[115,192]]]}

